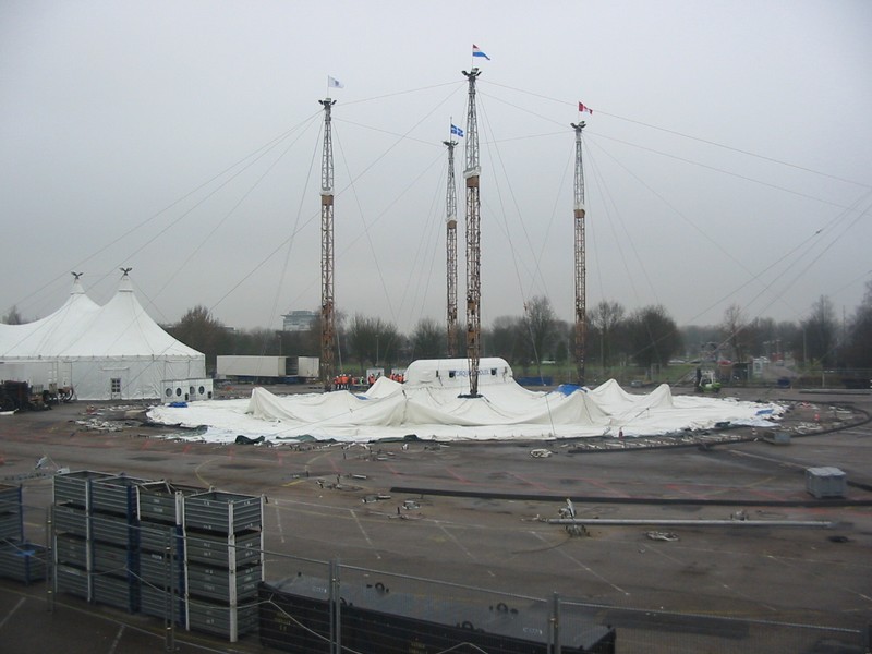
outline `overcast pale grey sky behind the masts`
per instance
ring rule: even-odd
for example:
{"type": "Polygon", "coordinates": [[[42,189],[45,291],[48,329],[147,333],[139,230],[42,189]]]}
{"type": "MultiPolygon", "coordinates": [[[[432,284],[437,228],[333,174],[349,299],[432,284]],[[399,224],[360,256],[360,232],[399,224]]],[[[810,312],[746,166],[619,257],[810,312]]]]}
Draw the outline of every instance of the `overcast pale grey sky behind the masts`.
{"type": "MultiPolygon", "coordinates": [[[[482,312],[572,319],[584,114],[588,304],[679,324],[848,316],[872,276],[865,0],[0,2],[0,312],[133,267],[160,322],[278,328],[320,301],[327,76],[336,302],[445,315],[446,153],[476,58],[482,312]]],[[[459,295],[463,140],[458,148],[459,295]]]]}

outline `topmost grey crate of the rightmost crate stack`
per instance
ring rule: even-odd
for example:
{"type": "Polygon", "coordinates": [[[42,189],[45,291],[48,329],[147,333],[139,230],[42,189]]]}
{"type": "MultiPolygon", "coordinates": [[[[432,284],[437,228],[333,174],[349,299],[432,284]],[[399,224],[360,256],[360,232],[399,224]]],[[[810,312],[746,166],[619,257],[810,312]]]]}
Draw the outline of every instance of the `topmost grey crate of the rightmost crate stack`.
{"type": "Polygon", "coordinates": [[[221,534],[259,530],[263,497],[210,491],[184,498],[186,530],[221,534]]]}

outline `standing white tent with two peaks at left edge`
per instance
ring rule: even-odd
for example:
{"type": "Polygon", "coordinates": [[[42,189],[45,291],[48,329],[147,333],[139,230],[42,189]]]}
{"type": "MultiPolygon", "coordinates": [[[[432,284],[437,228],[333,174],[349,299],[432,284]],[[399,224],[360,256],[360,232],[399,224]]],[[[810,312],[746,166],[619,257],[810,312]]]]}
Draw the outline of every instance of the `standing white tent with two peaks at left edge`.
{"type": "Polygon", "coordinates": [[[33,385],[72,386],[80,400],[155,399],[166,380],[204,378],[206,358],[148,316],[124,274],[104,306],[76,279],[51,315],[0,325],[0,375],[3,370],[33,385]]]}

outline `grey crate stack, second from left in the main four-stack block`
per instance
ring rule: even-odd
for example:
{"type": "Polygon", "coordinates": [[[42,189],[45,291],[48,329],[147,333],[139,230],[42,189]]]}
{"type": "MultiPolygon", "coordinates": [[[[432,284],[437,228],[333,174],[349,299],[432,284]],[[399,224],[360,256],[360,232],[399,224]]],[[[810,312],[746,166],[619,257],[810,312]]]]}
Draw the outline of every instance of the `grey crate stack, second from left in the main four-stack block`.
{"type": "Polygon", "coordinates": [[[140,610],[140,514],[136,487],[125,474],[92,483],[92,598],[140,610]]]}

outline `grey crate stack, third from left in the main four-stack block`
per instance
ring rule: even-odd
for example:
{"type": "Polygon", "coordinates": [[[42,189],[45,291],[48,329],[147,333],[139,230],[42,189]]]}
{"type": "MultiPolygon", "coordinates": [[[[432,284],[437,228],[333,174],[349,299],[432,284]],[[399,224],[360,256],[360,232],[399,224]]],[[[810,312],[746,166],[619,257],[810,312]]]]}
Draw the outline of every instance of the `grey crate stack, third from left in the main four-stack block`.
{"type": "Polygon", "coordinates": [[[166,481],[137,487],[140,506],[140,610],[185,626],[184,497],[205,488],[166,481]],[[172,600],[170,600],[172,598],[172,600]]]}

